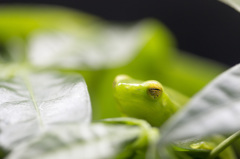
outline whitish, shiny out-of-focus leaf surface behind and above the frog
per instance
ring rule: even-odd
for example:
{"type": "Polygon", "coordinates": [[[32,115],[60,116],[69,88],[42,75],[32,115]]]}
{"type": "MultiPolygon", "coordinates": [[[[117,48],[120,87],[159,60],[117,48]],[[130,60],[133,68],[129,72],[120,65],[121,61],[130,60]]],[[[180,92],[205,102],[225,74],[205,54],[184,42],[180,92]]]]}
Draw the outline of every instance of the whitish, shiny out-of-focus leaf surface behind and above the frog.
{"type": "Polygon", "coordinates": [[[74,70],[117,67],[129,63],[148,39],[144,22],[103,24],[88,28],[86,35],[58,31],[34,34],[29,39],[28,61],[38,67],[74,70]]]}

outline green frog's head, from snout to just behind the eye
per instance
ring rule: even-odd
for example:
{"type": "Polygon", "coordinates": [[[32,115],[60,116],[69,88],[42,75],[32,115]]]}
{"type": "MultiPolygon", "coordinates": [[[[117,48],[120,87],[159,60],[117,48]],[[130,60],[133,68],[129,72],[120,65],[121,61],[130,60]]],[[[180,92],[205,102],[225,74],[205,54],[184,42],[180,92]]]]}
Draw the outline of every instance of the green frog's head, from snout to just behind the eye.
{"type": "Polygon", "coordinates": [[[154,126],[163,122],[159,121],[159,115],[164,115],[161,113],[164,107],[164,90],[158,81],[144,82],[119,75],[113,82],[113,89],[119,109],[124,115],[145,119],[154,126]]]}

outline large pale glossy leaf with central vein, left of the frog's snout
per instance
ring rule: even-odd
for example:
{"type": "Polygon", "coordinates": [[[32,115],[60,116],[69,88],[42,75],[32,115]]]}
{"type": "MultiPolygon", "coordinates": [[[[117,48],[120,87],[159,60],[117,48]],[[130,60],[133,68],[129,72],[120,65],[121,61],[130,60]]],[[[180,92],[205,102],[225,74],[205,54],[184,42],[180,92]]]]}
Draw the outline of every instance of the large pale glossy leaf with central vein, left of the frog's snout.
{"type": "Polygon", "coordinates": [[[0,79],[0,146],[5,149],[51,125],[90,120],[87,87],[78,74],[21,73],[0,79]]]}

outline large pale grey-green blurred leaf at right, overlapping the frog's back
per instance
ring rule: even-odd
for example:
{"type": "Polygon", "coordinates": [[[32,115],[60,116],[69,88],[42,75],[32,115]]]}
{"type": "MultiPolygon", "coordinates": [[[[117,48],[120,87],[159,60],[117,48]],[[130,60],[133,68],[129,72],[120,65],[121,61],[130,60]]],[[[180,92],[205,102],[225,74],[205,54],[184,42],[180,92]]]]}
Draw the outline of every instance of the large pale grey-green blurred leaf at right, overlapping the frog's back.
{"type": "Polygon", "coordinates": [[[221,74],[162,127],[161,144],[240,129],[240,65],[221,74]]]}

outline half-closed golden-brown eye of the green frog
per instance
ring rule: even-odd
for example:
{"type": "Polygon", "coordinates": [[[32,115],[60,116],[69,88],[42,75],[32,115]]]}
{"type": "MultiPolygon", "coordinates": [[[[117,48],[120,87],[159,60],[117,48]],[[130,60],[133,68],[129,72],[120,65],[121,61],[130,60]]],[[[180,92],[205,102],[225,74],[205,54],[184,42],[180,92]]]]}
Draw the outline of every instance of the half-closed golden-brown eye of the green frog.
{"type": "Polygon", "coordinates": [[[162,85],[157,81],[147,81],[147,93],[152,99],[157,99],[161,96],[163,88],[162,85]]]}

